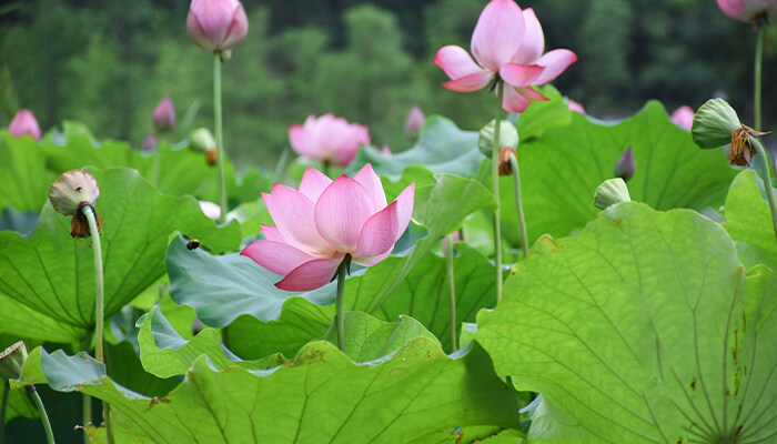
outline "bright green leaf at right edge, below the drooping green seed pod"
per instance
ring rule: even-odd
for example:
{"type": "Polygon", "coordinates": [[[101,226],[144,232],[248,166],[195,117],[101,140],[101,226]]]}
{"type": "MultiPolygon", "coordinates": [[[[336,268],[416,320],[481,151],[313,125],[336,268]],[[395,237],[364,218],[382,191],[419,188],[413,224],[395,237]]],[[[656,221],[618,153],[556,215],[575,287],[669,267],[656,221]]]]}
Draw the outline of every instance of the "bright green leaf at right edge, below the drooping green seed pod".
{"type": "Polygon", "coordinates": [[[739,260],[746,266],[765,264],[777,270],[777,239],[769,204],[759,191],[763,186],[755,171],[740,172],[726,198],[723,226],[736,241],[739,260]]]}

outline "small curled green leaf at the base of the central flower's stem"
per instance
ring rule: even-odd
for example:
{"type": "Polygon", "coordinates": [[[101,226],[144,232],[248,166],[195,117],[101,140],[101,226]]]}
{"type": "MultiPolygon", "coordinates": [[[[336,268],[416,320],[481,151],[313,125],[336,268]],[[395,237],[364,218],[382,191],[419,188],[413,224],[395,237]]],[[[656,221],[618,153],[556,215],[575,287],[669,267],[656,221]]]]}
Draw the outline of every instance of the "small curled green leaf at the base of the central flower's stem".
{"type": "MultiPolygon", "coordinates": [[[[345,354],[354,362],[386,356],[420,336],[428,337],[440,345],[440,341],[411,316],[402,316],[400,322],[386,322],[364,312],[345,312],[344,317],[345,354]]],[[[335,320],[324,340],[337,344],[335,320]]]]}

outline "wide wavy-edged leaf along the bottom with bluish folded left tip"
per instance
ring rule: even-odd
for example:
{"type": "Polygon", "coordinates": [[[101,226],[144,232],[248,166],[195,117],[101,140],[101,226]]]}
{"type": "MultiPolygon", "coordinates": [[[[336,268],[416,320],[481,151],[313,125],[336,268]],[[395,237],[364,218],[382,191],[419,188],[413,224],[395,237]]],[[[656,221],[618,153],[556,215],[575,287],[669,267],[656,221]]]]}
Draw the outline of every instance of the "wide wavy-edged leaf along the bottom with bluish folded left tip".
{"type": "Polygon", "coordinates": [[[201,356],[157,400],[117,385],[87,355],[37,349],[24,382],[46,380],[110,402],[118,422],[157,443],[400,443],[433,433],[453,443],[457,426],[517,427],[515,396],[488,355],[475,345],[452,359],[427,337],[361,365],[327,342],[269,372],[216,371],[201,356]]]}

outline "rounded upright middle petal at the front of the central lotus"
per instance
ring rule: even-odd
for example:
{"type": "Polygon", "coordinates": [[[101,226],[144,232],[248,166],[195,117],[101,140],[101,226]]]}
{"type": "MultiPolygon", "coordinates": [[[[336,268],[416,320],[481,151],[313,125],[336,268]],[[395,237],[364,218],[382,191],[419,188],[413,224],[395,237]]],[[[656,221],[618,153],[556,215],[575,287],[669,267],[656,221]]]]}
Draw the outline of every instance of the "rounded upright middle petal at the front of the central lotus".
{"type": "Polygon", "coordinates": [[[315,203],[315,228],[334,250],[350,253],[356,249],[362,226],[373,214],[373,205],[367,190],[343,174],[315,203]]]}

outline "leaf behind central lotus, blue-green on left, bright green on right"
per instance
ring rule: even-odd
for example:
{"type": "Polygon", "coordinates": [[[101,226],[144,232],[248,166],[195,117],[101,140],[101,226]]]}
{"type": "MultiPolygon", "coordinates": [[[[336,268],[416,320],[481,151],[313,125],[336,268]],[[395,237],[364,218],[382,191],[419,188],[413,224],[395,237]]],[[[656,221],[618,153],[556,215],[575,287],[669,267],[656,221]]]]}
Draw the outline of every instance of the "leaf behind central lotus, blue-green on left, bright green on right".
{"type": "MultiPolygon", "coordinates": [[[[491,193],[477,181],[452,174],[436,174],[435,181],[415,192],[413,219],[425,226],[426,236],[416,240],[416,233],[408,230],[394,250],[402,255],[390,256],[363,275],[347,279],[347,306],[371,313],[377,310],[435,242],[472,212],[494,206],[491,193]]],[[[264,322],[278,320],[283,302],[292,295],[302,295],[319,305],[334,303],[334,283],[302,294],[281,291],[274,284],[282,278],[250,259],[189,251],[183,241],[171,243],[167,265],[173,300],[192,306],[208,325],[225,326],[241,314],[264,322]]]]}

